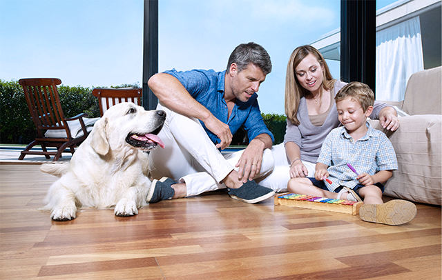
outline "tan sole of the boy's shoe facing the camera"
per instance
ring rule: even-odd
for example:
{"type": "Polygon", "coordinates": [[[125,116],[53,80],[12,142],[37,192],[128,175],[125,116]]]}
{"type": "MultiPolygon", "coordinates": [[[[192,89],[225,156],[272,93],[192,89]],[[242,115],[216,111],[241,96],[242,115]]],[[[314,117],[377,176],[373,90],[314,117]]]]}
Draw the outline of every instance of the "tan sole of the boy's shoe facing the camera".
{"type": "Polygon", "coordinates": [[[359,210],[359,216],[363,221],[398,226],[414,219],[416,212],[414,203],[394,199],[383,204],[364,204],[359,210]]]}

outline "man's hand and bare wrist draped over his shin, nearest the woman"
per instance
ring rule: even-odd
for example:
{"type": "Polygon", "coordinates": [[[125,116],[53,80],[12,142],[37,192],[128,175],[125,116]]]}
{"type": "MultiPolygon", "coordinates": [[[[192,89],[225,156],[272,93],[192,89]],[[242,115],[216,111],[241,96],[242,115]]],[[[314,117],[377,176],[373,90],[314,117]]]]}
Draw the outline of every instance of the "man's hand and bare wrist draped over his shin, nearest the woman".
{"type": "Polygon", "coordinates": [[[242,153],[240,160],[236,163],[236,167],[239,166],[238,179],[244,178],[243,183],[245,183],[247,179],[253,180],[253,177],[255,177],[261,169],[264,150],[271,148],[272,143],[273,141],[267,133],[259,134],[250,141],[242,153]]]}

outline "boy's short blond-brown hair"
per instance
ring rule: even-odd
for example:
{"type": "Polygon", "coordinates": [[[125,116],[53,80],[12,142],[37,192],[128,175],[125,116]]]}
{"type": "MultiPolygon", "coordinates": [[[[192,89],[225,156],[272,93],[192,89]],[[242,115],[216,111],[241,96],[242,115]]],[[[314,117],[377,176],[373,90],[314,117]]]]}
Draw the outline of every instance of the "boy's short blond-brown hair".
{"type": "Polygon", "coordinates": [[[365,83],[358,81],[347,83],[347,85],[338,91],[336,97],[334,97],[334,100],[338,102],[347,99],[348,97],[350,97],[352,101],[356,101],[361,104],[364,112],[367,112],[367,108],[369,108],[369,106],[373,106],[374,104],[373,90],[365,83]]]}

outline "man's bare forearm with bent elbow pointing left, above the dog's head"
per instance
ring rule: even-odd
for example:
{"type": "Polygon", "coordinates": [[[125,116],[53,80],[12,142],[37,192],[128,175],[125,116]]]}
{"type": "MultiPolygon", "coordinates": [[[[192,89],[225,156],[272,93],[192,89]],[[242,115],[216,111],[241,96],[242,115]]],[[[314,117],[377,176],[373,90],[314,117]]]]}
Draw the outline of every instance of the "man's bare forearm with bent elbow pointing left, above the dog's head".
{"type": "Polygon", "coordinates": [[[232,134],[229,126],[196,101],[178,79],[170,74],[158,73],[148,80],[148,86],[167,108],[204,122],[206,128],[221,139],[221,143],[216,145],[217,148],[224,149],[230,145],[232,134]]]}

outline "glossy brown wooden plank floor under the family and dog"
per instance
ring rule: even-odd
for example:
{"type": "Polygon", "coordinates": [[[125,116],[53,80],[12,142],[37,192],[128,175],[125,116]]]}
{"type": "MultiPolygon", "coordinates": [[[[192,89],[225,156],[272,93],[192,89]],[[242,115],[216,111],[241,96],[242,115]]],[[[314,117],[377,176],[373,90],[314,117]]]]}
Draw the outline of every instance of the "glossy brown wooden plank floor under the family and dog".
{"type": "Polygon", "coordinates": [[[55,222],[37,210],[55,179],[0,164],[0,279],[441,279],[438,206],[385,226],[212,192],[55,222]]]}

